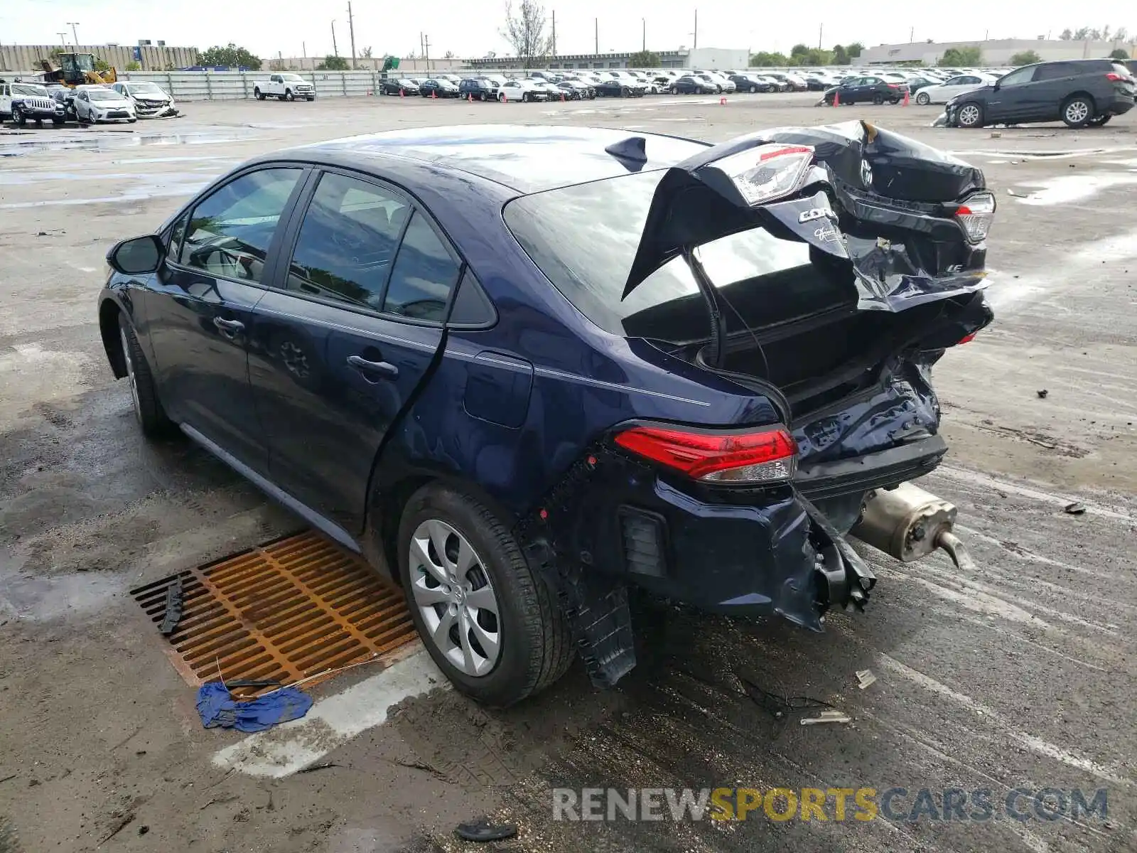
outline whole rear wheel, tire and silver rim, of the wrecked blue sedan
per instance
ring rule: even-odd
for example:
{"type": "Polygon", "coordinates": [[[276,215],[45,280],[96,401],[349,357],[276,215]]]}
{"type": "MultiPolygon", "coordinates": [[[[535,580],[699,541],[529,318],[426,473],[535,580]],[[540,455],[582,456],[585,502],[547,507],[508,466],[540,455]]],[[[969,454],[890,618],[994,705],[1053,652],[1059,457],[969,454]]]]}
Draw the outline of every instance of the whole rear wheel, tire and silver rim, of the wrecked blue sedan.
{"type": "Polygon", "coordinates": [[[426,486],[407,502],[398,537],[415,628],[458,690],[505,706],[564,674],[574,654],[567,621],[492,511],[426,486]]]}

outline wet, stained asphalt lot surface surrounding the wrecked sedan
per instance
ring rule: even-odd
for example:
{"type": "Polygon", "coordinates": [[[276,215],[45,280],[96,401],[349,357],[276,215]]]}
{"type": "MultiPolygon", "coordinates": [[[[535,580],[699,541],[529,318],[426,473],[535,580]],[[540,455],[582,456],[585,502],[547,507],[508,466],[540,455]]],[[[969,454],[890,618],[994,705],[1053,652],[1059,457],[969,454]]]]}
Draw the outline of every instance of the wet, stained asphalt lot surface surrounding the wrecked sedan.
{"type": "Polygon", "coordinates": [[[0,818],[27,850],[110,833],[122,850],[460,850],[450,829],[479,813],[520,826],[501,850],[1137,848],[1135,118],[963,132],[929,127],[933,108],[812,100],[186,103],[130,129],[0,131],[0,818]],[[952,450],[921,483],[960,507],[972,563],[864,548],[869,610],[820,636],[641,603],[640,665],[615,690],[579,666],[506,712],[441,690],[319,773],[213,768],[235,738],[200,730],[125,590],[298,522],[192,446],[140,438],[96,323],[107,248],[246,158],[346,133],[509,121],[722,140],[838,117],[957,151],[997,193],[996,322],[936,367],[952,450]],[[819,703],[852,721],[802,726],[819,703]],[[873,820],[835,820],[831,793],[827,820],[553,819],[551,788],[733,786],[896,793],[873,820]],[[1036,808],[1045,788],[1067,808],[1054,792],[1036,808]],[[1074,815],[1074,789],[1104,789],[1107,813],[1074,815]]]}

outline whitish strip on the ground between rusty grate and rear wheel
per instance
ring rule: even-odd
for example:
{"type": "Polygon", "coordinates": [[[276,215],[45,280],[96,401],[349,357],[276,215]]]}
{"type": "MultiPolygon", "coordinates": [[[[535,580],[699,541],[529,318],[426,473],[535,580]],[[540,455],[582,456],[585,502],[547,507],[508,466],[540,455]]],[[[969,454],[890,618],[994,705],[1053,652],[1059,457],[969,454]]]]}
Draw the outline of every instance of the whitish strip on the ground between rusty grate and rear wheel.
{"type": "Polygon", "coordinates": [[[314,703],[300,720],[249,735],[213,757],[216,767],[280,778],[318,761],[356,735],[387,722],[390,709],[410,696],[448,686],[430,655],[417,651],[376,676],[314,703]]]}

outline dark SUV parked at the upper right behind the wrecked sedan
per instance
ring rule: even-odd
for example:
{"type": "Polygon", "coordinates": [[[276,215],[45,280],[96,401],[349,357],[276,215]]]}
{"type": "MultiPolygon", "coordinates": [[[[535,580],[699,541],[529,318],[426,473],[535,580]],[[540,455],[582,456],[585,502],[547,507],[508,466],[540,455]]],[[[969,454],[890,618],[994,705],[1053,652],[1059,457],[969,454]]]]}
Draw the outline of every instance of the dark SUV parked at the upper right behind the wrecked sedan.
{"type": "Polygon", "coordinates": [[[1069,127],[1101,127],[1132,106],[1134,77],[1124,65],[1063,59],[1015,68],[990,85],[955,96],[944,113],[949,127],[1059,119],[1069,127]]]}

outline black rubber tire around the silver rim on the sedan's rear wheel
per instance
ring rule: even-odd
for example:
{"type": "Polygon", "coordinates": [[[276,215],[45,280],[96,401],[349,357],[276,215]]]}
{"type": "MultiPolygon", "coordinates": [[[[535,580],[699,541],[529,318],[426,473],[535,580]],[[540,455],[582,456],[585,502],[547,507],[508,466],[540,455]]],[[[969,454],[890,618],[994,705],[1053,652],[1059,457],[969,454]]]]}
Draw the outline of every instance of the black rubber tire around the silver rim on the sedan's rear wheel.
{"type": "Polygon", "coordinates": [[[487,705],[505,707],[543,690],[565,673],[575,648],[556,594],[530,566],[501,520],[481,502],[446,486],[425,486],[404,507],[398,537],[399,573],[415,628],[457,690],[487,705]],[[466,674],[446,657],[429,636],[416,604],[410,540],[418,525],[430,520],[445,522],[467,540],[492,585],[500,652],[483,676],[466,674]]]}

